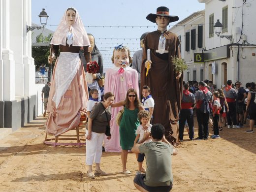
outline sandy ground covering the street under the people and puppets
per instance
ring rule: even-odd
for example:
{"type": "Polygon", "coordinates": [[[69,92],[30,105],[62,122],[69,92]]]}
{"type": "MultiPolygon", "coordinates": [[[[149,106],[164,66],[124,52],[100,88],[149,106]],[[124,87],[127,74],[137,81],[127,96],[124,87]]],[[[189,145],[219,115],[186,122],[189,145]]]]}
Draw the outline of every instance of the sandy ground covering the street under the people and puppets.
{"type": "MultiPolygon", "coordinates": [[[[131,175],[121,173],[119,153],[103,153],[101,168],[109,175],[88,179],[85,147],[44,145],[44,122],[38,117],[0,140],[0,192],[136,191],[134,154],[128,154],[131,175]]],[[[224,128],[221,139],[203,141],[189,141],[185,134],[172,161],[172,191],[256,192],[256,133],[247,129],[224,128]]]]}

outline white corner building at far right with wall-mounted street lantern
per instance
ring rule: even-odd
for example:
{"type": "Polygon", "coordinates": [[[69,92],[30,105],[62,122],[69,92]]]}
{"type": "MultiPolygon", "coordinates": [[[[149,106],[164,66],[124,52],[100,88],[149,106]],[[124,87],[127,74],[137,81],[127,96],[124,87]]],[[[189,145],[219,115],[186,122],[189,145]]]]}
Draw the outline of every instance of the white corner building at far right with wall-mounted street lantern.
{"type": "Polygon", "coordinates": [[[205,3],[205,79],[218,88],[228,79],[243,86],[256,81],[256,1],[198,1],[205,3]],[[223,24],[220,35],[232,35],[230,40],[216,35],[217,19],[223,24]]]}

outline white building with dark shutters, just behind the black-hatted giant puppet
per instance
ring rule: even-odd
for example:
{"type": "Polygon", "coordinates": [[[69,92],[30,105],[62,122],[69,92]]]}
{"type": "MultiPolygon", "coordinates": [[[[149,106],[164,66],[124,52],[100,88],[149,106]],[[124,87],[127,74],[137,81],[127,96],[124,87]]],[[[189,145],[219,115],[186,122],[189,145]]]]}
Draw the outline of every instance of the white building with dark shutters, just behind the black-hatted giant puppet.
{"type": "Polygon", "coordinates": [[[171,29],[170,32],[177,34],[181,41],[181,56],[185,59],[189,69],[184,71],[184,81],[202,81],[204,79],[203,61],[195,62],[194,57],[202,58],[204,46],[205,21],[204,10],[192,13],[171,29]]]}

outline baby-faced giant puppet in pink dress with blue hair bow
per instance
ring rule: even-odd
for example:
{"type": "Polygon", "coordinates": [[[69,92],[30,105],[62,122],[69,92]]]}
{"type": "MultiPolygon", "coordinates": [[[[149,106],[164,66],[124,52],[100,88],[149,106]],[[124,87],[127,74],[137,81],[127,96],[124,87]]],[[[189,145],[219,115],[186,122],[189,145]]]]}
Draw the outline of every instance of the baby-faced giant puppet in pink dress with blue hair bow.
{"type": "MultiPolygon", "coordinates": [[[[138,73],[129,67],[132,63],[128,47],[119,45],[115,47],[111,58],[114,66],[106,71],[104,91],[112,92],[115,102],[125,100],[127,91],[133,88],[138,93],[138,73]]],[[[119,126],[115,122],[116,115],[124,107],[113,107],[111,109],[110,130],[111,139],[104,139],[105,151],[121,152],[119,126]]]]}

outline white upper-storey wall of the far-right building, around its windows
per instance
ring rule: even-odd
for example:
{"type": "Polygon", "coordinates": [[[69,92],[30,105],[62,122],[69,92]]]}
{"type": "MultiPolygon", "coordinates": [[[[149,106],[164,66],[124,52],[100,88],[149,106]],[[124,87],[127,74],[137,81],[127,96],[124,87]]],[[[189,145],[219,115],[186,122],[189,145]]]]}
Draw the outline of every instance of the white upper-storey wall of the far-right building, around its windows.
{"type": "MultiPolygon", "coordinates": [[[[228,6],[228,30],[221,33],[221,35],[233,35],[233,42],[239,41],[241,29],[242,29],[242,10],[243,0],[198,0],[199,2],[205,2],[205,46],[206,49],[212,49],[229,44],[230,41],[226,38],[220,38],[215,33],[213,37],[209,38],[209,16],[214,13],[214,24],[217,19],[222,21],[222,8],[228,6]]],[[[247,0],[248,1],[248,0],[247,0]]],[[[243,34],[247,36],[247,41],[251,44],[256,44],[256,1],[248,1],[244,4],[244,23],[243,34]]],[[[239,43],[242,43],[243,39],[240,39],[239,43]]]]}

